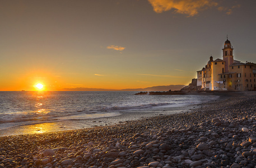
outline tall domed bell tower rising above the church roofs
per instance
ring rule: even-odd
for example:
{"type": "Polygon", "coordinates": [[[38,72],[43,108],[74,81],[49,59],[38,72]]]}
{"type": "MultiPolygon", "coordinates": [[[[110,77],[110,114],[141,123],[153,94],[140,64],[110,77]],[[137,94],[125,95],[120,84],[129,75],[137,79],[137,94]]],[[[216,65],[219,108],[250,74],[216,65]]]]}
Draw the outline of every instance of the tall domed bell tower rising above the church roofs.
{"type": "Polygon", "coordinates": [[[229,39],[225,41],[223,50],[223,60],[225,62],[225,72],[229,72],[229,66],[234,63],[234,56],[233,56],[233,47],[229,39]]]}

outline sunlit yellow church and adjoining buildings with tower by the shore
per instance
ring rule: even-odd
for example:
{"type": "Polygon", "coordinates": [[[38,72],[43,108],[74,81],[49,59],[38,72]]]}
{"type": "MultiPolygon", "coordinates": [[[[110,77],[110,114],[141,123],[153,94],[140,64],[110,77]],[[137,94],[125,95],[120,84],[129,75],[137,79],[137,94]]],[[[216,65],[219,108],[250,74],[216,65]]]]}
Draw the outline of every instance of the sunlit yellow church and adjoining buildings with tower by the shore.
{"type": "Polygon", "coordinates": [[[235,60],[233,49],[227,39],[222,48],[222,59],[213,60],[211,56],[206,66],[197,71],[197,86],[201,86],[201,90],[256,90],[256,64],[235,60]]]}

